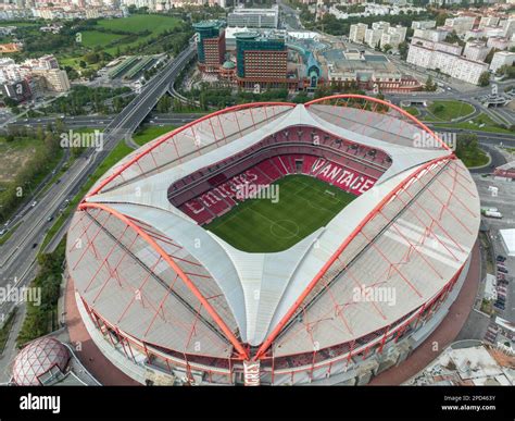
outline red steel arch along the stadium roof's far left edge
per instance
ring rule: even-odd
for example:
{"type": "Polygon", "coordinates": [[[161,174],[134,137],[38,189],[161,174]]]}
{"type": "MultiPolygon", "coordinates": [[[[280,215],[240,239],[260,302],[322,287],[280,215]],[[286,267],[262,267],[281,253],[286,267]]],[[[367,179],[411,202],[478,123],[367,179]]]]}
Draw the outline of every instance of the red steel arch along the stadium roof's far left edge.
{"type": "Polygon", "coordinates": [[[123,164],[118,170],[116,170],[113,174],[111,174],[109,177],[105,177],[97,187],[95,187],[92,190],[90,190],[87,195],[86,198],[90,196],[97,195],[102,188],[104,188],[109,183],[111,183],[114,178],[116,178],[120,174],[122,174],[125,170],[127,170],[130,165],[136,163],[140,158],[145,157],[148,153],[151,153],[152,150],[154,150],[156,147],[159,147],[161,144],[164,144],[165,141],[169,140],[172,137],[175,135],[196,126],[198,123],[201,123],[205,120],[209,120],[211,117],[214,117],[216,115],[221,114],[226,114],[228,112],[233,111],[239,111],[239,110],[244,110],[244,109],[252,109],[252,108],[258,108],[258,107],[275,107],[275,106],[287,106],[287,107],[296,107],[297,104],[293,102],[249,102],[249,103],[242,103],[229,108],[225,108],[223,110],[218,110],[215,112],[212,112],[210,114],[206,114],[198,120],[194,120],[188,124],[185,124],[184,126],[180,126],[176,128],[175,131],[172,131],[167,135],[163,136],[162,139],[159,141],[155,141],[151,147],[147,148],[142,152],[136,154],[133,159],[127,161],[125,164],[123,164]]]}

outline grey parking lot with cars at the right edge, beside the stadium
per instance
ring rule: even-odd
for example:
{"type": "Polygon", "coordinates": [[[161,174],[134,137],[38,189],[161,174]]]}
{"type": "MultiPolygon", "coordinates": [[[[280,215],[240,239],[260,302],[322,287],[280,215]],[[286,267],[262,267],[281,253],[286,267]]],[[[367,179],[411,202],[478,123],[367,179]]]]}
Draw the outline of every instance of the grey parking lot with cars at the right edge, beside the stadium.
{"type": "Polygon", "coordinates": [[[481,208],[495,208],[502,214],[502,219],[485,218],[483,222],[490,230],[490,238],[493,245],[493,262],[497,276],[498,299],[493,309],[503,319],[515,322],[515,257],[506,253],[499,234],[500,230],[515,228],[515,183],[497,181],[491,177],[474,175],[481,198],[481,208]],[[497,187],[498,191],[492,191],[497,187]],[[498,258],[498,256],[500,256],[498,258]],[[505,260],[504,260],[505,258],[505,260]]]}

